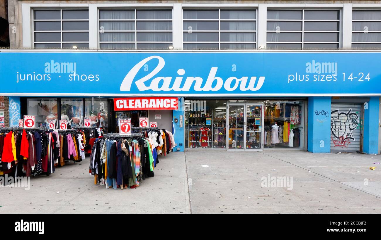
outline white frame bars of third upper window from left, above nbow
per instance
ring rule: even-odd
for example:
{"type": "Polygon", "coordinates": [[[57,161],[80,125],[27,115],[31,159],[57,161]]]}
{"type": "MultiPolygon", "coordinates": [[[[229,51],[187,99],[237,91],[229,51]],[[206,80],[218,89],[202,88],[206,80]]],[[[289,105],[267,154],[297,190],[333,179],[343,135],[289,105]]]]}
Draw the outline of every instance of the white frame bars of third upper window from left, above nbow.
{"type": "MultiPolygon", "coordinates": [[[[218,30],[192,30],[192,32],[218,32],[218,41],[182,41],[182,49],[184,49],[184,43],[218,43],[218,49],[215,50],[221,50],[221,43],[238,43],[238,44],[253,44],[255,45],[254,49],[258,48],[258,8],[253,8],[253,7],[247,7],[247,8],[182,8],[181,11],[181,17],[182,17],[182,22],[184,21],[195,21],[195,22],[202,22],[202,21],[218,21],[218,30]],[[218,10],[218,19],[184,19],[184,10],[218,10]],[[221,19],[221,10],[255,10],[255,19],[221,19]],[[248,22],[255,22],[255,30],[221,30],[221,22],[230,22],[230,21],[248,21],[248,22]],[[254,32],[255,33],[255,41],[245,41],[245,42],[231,42],[231,41],[222,41],[221,42],[221,32],[240,32],[240,33],[246,33],[246,32],[254,32]]],[[[184,30],[183,25],[181,25],[181,36],[184,35],[184,32],[188,32],[188,30],[184,30]]],[[[229,50],[229,49],[222,49],[222,50],[229,50]]],[[[240,50],[240,49],[233,49],[233,50],[240,50]]]]}

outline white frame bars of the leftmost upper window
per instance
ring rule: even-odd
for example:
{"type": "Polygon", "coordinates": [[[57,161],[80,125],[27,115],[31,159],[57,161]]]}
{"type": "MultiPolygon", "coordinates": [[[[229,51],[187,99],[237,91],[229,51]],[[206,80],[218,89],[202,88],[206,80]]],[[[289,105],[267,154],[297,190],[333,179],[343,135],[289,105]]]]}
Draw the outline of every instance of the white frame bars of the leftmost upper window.
{"type": "MultiPolygon", "coordinates": [[[[90,21],[89,21],[89,17],[87,19],[62,19],[62,10],[87,10],[89,11],[88,8],[83,8],[83,7],[79,7],[79,8],[32,8],[32,48],[35,48],[35,44],[36,43],[60,43],[61,44],[61,49],[63,49],[63,44],[64,43],[88,43],[89,44],[89,47],[90,47],[90,21]],[[60,10],[60,19],[34,19],[34,11],[35,10],[60,10]],[[53,30],[53,31],[37,31],[37,30],[34,30],[34,23],[35,22],[60,22],[60,26],[61,26],[61,30],[53,30]],[[69,22],[69,21],[83,21],[83,22],[88,22],[89,23],[89,30],[62,30],[62,22],[69,22]],[[60,32],[61,34],[61,41],[59,42],[36,42],[34,41],[34,33],[36,32],[60,32]],[[89,41],[75,41],[75,42],[66,42],[66,41],[62,41],[62,33],[63,32],[87,32],[89,34],[89,41]]],[[[90,16],[90,12],[89,12],[89,16],[90,16]]]]}

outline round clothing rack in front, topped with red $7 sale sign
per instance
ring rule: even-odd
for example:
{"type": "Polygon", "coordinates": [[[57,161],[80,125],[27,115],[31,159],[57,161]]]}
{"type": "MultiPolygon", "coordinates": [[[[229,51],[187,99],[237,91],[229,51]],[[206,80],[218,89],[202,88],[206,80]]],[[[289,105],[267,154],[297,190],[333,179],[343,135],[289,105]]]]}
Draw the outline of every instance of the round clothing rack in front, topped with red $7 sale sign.
{"type": "Polygon", "coordinates": [[[94,184],[106,188],[138,187],[145,178],[154,177],[155,148],[142,133],[107,133],[94,142],[89,170],[94,184]]]}

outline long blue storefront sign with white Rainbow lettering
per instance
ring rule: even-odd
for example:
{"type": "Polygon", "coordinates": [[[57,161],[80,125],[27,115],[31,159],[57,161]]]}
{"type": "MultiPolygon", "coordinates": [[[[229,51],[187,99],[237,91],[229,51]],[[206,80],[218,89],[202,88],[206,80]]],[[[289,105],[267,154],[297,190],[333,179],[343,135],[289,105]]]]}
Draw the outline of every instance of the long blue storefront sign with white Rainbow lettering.
{"type": "Polygon", "coordinates": [[[0,60],[0,95],[381,95],[375,52],[2,52],[0,60]]]}

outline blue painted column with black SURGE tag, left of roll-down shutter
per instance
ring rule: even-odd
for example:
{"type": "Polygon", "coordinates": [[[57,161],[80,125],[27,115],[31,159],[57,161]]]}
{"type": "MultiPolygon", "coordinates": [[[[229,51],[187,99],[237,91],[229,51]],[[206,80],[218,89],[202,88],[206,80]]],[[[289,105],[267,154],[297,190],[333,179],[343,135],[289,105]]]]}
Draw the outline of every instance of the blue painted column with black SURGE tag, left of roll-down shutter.
{"type": "Polygon", "coordinates": [[[331,152],[331,97],[308,98],[307,150],[331,152]]]}

